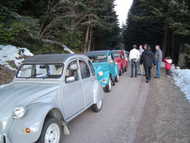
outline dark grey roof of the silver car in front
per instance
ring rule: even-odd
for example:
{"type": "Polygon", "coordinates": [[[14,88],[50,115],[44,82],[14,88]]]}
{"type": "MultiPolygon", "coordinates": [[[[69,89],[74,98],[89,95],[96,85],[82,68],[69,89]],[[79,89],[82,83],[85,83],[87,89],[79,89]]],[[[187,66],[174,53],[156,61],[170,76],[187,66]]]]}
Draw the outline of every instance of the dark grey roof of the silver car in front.
{"type": "Polygon", "coordinates": [[[23,61],[23,64],[39,64],[39,63],[64,63],[71,57],[81,57],[78,54],[44,54],[28,57],[23,61]]]}

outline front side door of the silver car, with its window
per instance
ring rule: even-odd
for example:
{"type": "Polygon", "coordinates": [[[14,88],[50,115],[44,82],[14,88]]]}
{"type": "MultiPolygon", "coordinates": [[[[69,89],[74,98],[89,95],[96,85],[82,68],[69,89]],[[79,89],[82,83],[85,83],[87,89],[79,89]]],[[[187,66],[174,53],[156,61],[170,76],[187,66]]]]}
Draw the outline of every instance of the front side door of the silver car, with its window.
{"type": "Polygon", "coordinates": [[[63,111],[66,120],[80,112],[84,105],[84,95],[79,70],[77,60],[72,60],[66,65],[65,86],[63,89],[63,111]],[[77,68],[72,69],[71,67],[73,65],[76,65],[77,68]]]}

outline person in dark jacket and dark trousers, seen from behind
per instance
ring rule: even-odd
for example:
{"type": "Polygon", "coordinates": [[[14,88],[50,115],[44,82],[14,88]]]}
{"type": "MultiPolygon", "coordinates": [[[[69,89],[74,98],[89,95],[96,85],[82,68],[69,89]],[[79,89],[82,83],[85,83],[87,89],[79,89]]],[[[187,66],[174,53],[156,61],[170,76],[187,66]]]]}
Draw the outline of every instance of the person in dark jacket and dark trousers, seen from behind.
{"type": "Polygon", "coordinates": [[[148,46],[148,48],[145,49],[145,51],[142,53],[141,56],[141,64],[144,65],[147,83],[151,80],[151,70],[153,63],[154,63],[154,54],[152,53],[150,47],[148,46]]]}

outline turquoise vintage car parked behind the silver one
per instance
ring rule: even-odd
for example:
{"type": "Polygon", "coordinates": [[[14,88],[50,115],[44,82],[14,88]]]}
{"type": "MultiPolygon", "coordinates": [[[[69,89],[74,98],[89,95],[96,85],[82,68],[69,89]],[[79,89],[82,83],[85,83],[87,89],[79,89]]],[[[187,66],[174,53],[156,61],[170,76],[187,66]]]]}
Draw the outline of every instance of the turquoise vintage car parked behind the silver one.
{"type": "Polygon", "coordinates": [[[105,92],[110,92],[112,85],[119,81],[118,65],[114,62],[112,52],[91,51],[86,54],[92,61],[96,77],[105,92]]]}

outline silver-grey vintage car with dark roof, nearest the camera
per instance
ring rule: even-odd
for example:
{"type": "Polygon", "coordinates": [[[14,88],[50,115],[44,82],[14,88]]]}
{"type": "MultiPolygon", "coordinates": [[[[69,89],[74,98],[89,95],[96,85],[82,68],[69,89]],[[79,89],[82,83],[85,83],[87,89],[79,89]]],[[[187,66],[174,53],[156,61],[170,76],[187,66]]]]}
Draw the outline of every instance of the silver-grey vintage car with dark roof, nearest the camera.
{"type": "Polygon", "coordinates": [[[62,143],[67,123],[89,107],[99,112],[103,97],[88,57],[30,57],[0,88],[0,143],[62,143]]]}

